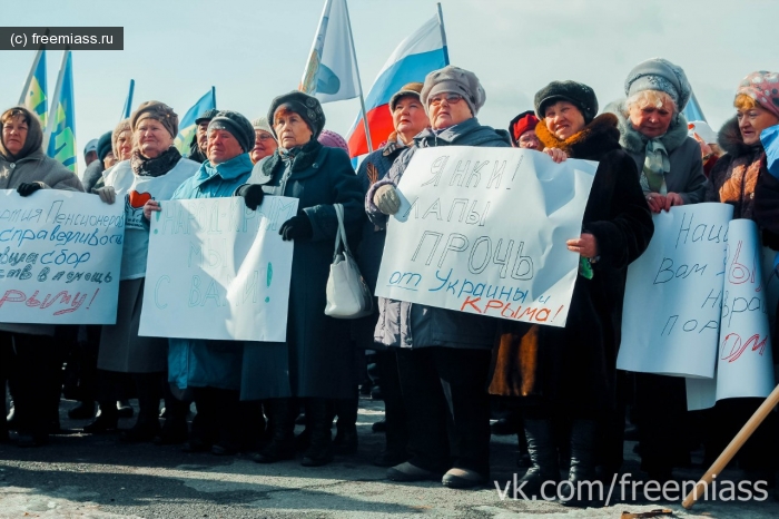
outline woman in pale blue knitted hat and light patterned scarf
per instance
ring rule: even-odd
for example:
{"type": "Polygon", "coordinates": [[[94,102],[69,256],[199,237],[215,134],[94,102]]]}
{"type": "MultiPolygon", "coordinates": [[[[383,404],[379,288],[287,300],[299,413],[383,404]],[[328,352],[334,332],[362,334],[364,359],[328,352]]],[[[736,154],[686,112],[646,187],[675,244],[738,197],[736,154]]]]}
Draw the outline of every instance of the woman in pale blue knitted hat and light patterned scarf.
{"type": "MultiPolygon", "coordinates": [[[[620,144],[635,161],[649,208],[659,213],[702,202],[701,148],[688,136],[688,121],[681,114],[692,92],[684,71],[665,59],[649,59],[630,71],[624,91],[628,98],[612,102],[605,111],[619,119],[620,144]]],[[[667,481],[673,466],[687,457],[681,425],[687,417],[684,380],[651,373],[633,376],[641,468],[650,479],[667,481]],[[680,427],[669,429],[668,420],[680,427]]],[[[624,429],[624,418],[618,422],[624,429]]],[[[617,443],[621,460],[622,441],[617,443]]]]}

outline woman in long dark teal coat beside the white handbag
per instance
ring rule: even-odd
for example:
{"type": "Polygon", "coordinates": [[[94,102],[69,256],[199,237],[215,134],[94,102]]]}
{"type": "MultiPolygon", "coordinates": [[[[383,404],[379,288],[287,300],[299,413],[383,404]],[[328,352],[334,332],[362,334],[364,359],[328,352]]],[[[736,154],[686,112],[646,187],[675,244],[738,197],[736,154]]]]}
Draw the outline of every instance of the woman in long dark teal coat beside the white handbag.
{"type": "Polygon", "coordinates": [[[294,457],[295,399],[302,399],[310,430],[302,464],[316,467],[333,459],[332,400],[352,398],[356,385],[349,327],[324,314],[338,227],[333,204],[343,205],[348,235],[359,233],[365,215],[348,155],[317,140],[325,115],[316,98],[298,91],[278,96],[268,120],[278,148],[255,164],[249,184],[237,194],[252,209],[266,194],[298,199],[298,214],[278,231],[295,242],[287,341],[246,343],[241,399],[268,399],[270,442],[254,457],[259,463],[294,457]]]}

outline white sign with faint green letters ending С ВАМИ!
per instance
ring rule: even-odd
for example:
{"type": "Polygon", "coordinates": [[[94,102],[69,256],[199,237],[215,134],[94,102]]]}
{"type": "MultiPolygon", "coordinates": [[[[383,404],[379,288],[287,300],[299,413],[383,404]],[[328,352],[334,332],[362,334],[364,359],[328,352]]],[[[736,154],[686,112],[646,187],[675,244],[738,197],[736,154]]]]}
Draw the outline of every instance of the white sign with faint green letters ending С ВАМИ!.
{"type": "Polygon", "coordinates": [[[140,335],[284,341],[297,198],[170,200],[151,219],[140,335]]]}

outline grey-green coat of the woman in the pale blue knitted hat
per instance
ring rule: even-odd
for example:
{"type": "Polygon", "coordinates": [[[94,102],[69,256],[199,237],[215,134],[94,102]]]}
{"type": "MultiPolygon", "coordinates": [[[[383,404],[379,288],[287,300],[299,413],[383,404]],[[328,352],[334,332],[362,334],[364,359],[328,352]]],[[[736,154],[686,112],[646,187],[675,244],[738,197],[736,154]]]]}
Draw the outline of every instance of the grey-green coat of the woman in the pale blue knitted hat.
{"type": "MultiPolygon", "coordinates": [[[[607,106],[604,111],[617,116],[620,145],[635,160],[640,177],[648,138],[633,128],[630,119],[624,116],[624,101],[619,101],[607,106]]],[[[671,121],[665,135],[660,137],[671,163],[671,169],[665,174],[665,186],[668,193],[679,194],[684,204],[698,204],[703,202],[706,195],[706,174],[701,147],[696,139],[688,137],[687,131],[687,119],[679,114],[676,120],[671,121]]]]}

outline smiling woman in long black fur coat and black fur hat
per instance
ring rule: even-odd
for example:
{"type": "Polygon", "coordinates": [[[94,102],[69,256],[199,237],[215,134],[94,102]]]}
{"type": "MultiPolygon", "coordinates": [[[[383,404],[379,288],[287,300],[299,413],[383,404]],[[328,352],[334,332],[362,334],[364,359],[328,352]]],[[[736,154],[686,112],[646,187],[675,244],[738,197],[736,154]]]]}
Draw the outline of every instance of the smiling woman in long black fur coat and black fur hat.
{"type": "MultiPolygon", "coordinates": [[[[580,257],[565,327],[503,324],[490,391],[523,408],[532,467],[526,496],[558,481],[552,419],[572,421],[574,483],[594,480],[595,422],[614,405],[617,347],[628,265],[649,245],[654,227],[634,159],[619,144],[618,119],[598,112],[586,85],[553,81],[535,95],[536,134],[555,160],[598,160],[581,236],[566,242],[580,257]]],[[[573,503],[576,503],[574,501],[573,503]]]]}

